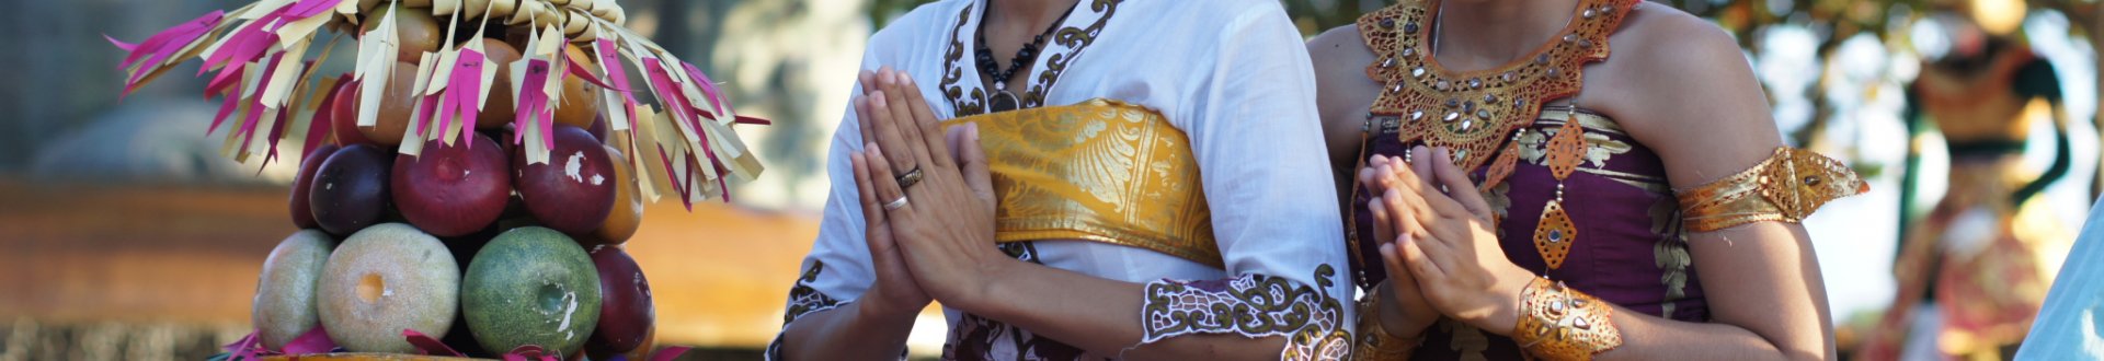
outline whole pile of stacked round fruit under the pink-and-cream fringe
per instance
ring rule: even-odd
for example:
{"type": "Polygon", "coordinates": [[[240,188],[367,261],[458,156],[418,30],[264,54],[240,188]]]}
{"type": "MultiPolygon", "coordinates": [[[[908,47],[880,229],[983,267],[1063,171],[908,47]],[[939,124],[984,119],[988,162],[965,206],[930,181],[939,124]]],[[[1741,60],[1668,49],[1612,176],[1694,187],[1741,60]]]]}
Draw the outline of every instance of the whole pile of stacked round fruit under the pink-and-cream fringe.
{"type": "MultiPolygon", "coordinates": [[[[402,34],[431,34],[404,38],[402,57],[438,46],[438,19],[402,15],[402,34]]],[[[469,42],[482,42],[492,63],[518,57],[505,40],[469,42]]],[[[591,59],[572,48],[570,61],[591,59]]],[[[393,84],[417,73],[412,63],[393,69],[393,84]]],[[[492,94],[509,92],[494,86],[492,94]]],[[[255,298],[263,346],[322,327],[358,353],[417,353],[404,330],[471,355],[640,351],[654,323],[650,285],[623,243],[642,222],[642,197],[627,157],[602,143],[598,92],[587,86],[564,82],[562,103],[574,107],[553,111],[553,157],[543,164],[497,141],[515,134],[509,111],[480,113],[463,143],[398,153],[414,101],[398,88],[408,86],[387,88],[377,126],[335,122],[332,143],[307,153],[292,183],[292,225],[305,231],[263,267],[255,298]]],[[[328,111],[353,118],[358,84],[335,94],[328,111]]]]}

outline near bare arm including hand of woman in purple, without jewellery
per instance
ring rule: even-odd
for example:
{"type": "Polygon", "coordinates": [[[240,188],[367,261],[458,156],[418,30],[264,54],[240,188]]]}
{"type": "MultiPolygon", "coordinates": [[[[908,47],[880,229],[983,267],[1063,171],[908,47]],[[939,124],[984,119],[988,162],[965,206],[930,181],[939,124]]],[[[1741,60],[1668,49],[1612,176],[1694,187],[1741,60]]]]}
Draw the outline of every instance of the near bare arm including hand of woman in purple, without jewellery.
{"type": "MultiPolygon", "coordinates": [[[[1765,97],[1721,29],[1671,8],[1645,13],[1650,23],[1624,25],[1637,34],[1618,36],[1616,61],[1597,71],[1620,80],[1589,82],[1586,105],[1605,105],[1639,143],[1660,153],[1677,189],[1738,174],[1782,145],[1765,97]]],[[[1488,206],[1445,151],[1416,160],[1416,170],[1395,170],[1403,189],[1382,195],[1391,212],[1414,220],[1399,225],[1408,231],[1382,246],[1382,256],[1410,264],[1441,313],[1513,336],[1521,290],[1536,275],[1502,256],[1488,222],[1479,220],[1488,218],[1488,206]],[[1431,174],[1456,189],[1454,197],[1420,181],[1431,174]]],[[[1824,285],[1803,227],[1755,222],[1694,233],[1690,252],[1715,319],[1673,321],[1607,304],[1622,344],[1599,359],[1835,357],[1824,285]]]]}

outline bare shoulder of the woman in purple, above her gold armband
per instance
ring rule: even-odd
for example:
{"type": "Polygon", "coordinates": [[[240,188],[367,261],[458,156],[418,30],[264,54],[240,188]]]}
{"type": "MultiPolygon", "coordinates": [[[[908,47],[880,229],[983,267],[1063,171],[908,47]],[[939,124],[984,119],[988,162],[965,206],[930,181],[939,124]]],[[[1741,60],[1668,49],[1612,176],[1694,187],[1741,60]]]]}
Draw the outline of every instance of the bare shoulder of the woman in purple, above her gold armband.
{"type": "Polygon", "coordinates": [[[1732,174],[1782,145],[1767,94],[1723,27],[1650,2],[1610,42],[1610,111],[1666,160],[1677,187],[1732,174]]]}

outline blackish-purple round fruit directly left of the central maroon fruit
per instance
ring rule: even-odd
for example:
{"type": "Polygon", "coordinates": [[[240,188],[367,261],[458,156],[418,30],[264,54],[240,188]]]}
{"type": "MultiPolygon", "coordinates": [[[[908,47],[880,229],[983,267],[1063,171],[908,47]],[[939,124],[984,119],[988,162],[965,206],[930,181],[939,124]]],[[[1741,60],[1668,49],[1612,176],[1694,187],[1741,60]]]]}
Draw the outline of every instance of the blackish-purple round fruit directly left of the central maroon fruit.
{"type": "Polygon", "coordinates": [[[372,145],[337,149],[322,162],[307,189],[313,222],[332,235],[351,235],[387,214],[387,168],[391,151],[372,145]]]}

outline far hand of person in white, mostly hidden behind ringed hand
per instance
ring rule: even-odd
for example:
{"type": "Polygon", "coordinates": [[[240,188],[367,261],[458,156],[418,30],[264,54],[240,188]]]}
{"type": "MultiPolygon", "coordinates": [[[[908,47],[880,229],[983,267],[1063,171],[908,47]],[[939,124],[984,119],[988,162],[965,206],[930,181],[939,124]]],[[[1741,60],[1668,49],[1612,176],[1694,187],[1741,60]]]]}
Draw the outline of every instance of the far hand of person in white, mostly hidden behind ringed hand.
{"type": "MultiPolygon", "coordinates": [[[[877,73],[863,71],[863,94],[877,92],[877,73]]],[[[856,97],[854,109],[863,109],[869,99],[856,97]]],[[[863,120],[863,139],[873,139],[871,128],[863,120]]],[[[892,237],[890,220],[884,216],[884,201],[877,199],[873,187],[869,187],[869,157],[865,153],[850,153],[848,162],[854,166],[854,183],[861,185],[863,199],[863,231],[865,241],[869,241],[869,262],[875,269],[877,281],[863,296],[863,306],[879,315],[913,315],[932,302],[928,292],[922,292],[919,283],[913,281],[913,273],[907,271],[905,256],[898,252],[898,239],[892,237]]]]}

